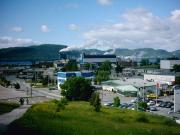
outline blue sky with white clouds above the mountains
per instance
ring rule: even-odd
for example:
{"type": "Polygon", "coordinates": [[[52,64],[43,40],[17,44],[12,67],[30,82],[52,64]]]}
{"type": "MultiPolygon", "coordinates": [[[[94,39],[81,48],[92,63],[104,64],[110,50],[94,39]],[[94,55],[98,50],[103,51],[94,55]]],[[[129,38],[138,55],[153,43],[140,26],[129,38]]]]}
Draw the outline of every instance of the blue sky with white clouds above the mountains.
{"type": "Polygon", "coordinates": [[[0,0],[0,48],[180,49],[180,0],[0,0]]]}

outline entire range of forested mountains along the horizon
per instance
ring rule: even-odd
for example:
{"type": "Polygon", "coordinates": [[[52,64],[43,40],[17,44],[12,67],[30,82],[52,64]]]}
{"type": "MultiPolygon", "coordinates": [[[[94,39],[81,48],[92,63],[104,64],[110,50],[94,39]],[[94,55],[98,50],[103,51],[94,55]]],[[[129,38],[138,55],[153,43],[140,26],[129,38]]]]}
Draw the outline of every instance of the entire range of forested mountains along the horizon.
{"type": "MultiPolygon", "coordinates": [[[[66,45],[56,44],[42,44],[39,46],[29,47],[13,47],[0,49],[0,60],[56,60],[59,58],[59,50],[66,48],[66,45]]],[[[82,49],[73,50],[69,52],[62,52],[62,54],[68,54],[69,58],[79,58],[82,53],[86,54],[116,54],[120,57],[131,58],[180,58],[180,50],[168,52],[163,49],[152,48],[139,48],[139,49],[109,49],[106,51],[98,49],[82,49]]]]}

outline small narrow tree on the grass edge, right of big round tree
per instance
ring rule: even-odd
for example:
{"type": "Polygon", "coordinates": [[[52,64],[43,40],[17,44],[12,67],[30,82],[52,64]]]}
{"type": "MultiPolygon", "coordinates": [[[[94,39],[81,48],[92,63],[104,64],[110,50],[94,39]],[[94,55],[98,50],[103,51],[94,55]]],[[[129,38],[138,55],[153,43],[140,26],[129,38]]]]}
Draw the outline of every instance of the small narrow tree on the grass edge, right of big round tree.
{"type": "Polygon", "coordinates": [[[96,112],[99,112],[101,109],[101,99],[99,97],[99,93],[98,92],[94,92],[91,96],[90,99],[90,105],[92,105],[94,107],[94,110],[96,112]]]}

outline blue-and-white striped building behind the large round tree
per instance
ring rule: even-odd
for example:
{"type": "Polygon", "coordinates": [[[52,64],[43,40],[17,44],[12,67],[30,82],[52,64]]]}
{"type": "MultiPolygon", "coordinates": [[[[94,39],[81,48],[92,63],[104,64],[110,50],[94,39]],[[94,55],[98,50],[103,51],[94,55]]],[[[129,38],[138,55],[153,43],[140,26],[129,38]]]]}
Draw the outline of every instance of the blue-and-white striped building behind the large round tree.
{"type": "Polygon", "coordinates": [[[92,71],[58,72],[57,73],[58,90],[60,90],[59,85],[63,84],[69,77],[84,77],[87,79],[93,79],[94,73],[92,71]]]}

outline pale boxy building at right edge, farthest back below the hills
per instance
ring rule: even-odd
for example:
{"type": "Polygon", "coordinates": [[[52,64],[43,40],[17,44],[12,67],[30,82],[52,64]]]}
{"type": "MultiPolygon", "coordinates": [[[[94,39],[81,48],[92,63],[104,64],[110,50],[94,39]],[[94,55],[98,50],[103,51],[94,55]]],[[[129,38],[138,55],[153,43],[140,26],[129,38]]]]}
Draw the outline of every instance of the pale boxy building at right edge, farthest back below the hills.
{"type": "Polygon", "coordinates": [[[174,65],[180,65],[180,60],[161,60],[160,61],[161,69],[173,69],[174,65]]]}

